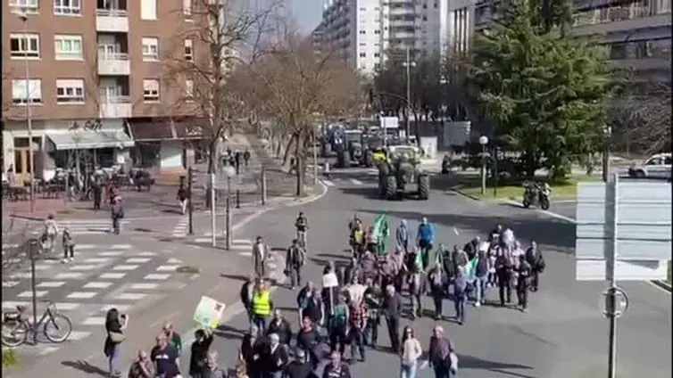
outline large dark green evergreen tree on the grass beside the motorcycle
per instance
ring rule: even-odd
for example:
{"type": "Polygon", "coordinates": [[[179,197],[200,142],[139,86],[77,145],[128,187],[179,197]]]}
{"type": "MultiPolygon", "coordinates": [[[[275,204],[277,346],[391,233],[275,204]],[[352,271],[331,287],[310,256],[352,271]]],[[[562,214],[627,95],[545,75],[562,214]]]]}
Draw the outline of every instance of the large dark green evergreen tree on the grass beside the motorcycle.
{"type": "Polygon", "coordinates": [[[569,37],[565,0],[512,0],[503,18],[478,35],[469,79],[495,137],[521,152],[521,170],[553,178],[601,145],[611,70],[605,52],[569,37]],[[561,32],[560,32],[561,31],[561,32]]]}

